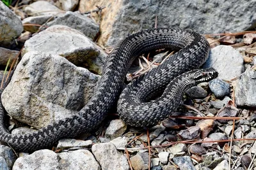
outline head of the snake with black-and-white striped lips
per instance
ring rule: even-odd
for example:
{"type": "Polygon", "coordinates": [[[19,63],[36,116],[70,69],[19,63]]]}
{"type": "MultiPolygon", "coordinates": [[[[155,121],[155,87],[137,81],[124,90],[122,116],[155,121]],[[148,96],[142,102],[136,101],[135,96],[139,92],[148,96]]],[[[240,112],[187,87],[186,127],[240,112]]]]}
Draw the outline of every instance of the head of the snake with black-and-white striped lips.
{"type": "Polygon", "coordinates": [[[210,81],[216,77],[218,77],[218,72],[211,67],[207,69],[196,70],[192,78],[196,81],[196,83],[202,83],[205,81],[210,81]]]}

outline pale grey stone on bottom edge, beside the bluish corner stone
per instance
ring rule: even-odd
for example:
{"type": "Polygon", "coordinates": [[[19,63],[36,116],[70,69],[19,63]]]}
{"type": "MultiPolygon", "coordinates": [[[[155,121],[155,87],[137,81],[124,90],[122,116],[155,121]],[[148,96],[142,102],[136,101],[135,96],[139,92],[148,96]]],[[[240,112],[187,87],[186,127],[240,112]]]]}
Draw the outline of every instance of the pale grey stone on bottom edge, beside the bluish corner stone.
{"type": "Polygon", "coordinates": [[[52,150],[38,150],[31,155],[19,157],[13,165],[13,170],[19,169],[58,169],[59,156],[52,150]]]}

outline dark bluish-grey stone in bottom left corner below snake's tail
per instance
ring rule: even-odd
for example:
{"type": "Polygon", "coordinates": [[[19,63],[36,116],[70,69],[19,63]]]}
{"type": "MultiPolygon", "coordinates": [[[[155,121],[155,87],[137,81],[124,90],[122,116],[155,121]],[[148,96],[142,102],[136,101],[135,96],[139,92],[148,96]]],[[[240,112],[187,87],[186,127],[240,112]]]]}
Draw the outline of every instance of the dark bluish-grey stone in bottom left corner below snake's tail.
{"type": "MultiPolygon", "coordinates": [[[[1,145],[0,146],[0,157],[3,157],[3,159],[6,162],[7,167],[9,169],[12,169],[13,163],[16,160],[16,155],[13,152],[12,148],[10,148],[8,146],[1,145]]],[[[1,160],[1,162],[2,162],[2,166],[0,166],[0,167],[3,167],[4,166],[4,161],[1,160]]]]}

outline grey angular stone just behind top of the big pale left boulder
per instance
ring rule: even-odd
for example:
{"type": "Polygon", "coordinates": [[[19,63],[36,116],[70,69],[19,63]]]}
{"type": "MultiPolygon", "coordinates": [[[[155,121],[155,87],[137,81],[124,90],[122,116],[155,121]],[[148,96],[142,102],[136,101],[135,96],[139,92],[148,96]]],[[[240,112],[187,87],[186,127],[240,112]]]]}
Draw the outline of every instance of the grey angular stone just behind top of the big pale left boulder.
{"type": "Polygon", "coordinates": [[[81,15],[80,13],[74,13],[72,11],[67,11],[65,15],[48,22],[46,25],[66,25],[72,29],[82,32],[85,36],[92,40],[95,39],[99,32],[99,25],[96,24],[92,18],[89,18],[86,15],[81,15]]]}

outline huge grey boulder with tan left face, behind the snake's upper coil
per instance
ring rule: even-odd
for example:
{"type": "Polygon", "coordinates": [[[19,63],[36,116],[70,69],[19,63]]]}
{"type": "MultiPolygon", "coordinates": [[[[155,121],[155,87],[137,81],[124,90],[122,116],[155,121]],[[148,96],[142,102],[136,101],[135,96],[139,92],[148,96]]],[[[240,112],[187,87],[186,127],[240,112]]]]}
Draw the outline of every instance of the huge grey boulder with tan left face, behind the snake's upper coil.
{"type": "MultiPolygon", "coordinates": [[[[186,1],[186,0],[81,0],[80,11],[106,6],[100,24],[100,41],[115,45],[125,35],[141,29],[179,26],[200,34],[237,32],[255,27],[256,1],[186,1]]],[[[96,8],[97,9],[97,8],[96,8]]],[[[100,42],[101,43],[101,42],[100,42]]]]}

